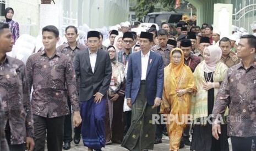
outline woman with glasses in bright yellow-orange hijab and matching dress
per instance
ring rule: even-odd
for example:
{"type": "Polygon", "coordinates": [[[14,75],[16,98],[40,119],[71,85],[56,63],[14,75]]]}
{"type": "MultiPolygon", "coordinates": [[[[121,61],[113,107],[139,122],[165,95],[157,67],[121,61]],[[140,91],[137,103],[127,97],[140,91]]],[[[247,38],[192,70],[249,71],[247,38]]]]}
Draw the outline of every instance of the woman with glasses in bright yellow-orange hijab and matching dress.
{"type": "Polygon", "coordinates": [[[195,80],[191,69],[184,65],[184,54],[179,48],[171,51],[171,63],[164,69],[164,91],[161,113],[167,114],[170,150],[178,150],[186,115],[190,113],[191,94],[195,80]]]}

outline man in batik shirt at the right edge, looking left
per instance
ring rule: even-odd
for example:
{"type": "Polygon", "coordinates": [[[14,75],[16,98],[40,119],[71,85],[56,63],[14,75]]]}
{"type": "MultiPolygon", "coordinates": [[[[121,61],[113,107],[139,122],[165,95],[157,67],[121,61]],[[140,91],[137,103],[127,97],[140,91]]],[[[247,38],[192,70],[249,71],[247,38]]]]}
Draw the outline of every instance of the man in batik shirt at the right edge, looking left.
{"type": "MultiPolygon", "coordinates": [[[[221,42],[222,43],[222,42],[221,42]]],[[[256,140],[256,37],[244,35],[238,43],[237,56],[242,60],[230,67],[221,83],[213,108],[213,136],[219,140],[220,117],[228,107],[227,135],[231,138],[232,150],[251,150],[256,140]]]]}

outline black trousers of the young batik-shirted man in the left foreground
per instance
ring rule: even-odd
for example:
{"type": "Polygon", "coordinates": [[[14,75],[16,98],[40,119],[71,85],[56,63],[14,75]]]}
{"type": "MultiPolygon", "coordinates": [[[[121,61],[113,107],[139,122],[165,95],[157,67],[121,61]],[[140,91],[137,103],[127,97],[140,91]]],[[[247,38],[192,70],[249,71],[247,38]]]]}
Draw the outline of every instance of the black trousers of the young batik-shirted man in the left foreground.
{"type": "Polygon", "coordinates": [[[48,151],[62,150],[64,119],[64,116],[56,118],[44,118],[38,115],[34,115],[34,151],[45,150],[46,131],[48,151]]]}

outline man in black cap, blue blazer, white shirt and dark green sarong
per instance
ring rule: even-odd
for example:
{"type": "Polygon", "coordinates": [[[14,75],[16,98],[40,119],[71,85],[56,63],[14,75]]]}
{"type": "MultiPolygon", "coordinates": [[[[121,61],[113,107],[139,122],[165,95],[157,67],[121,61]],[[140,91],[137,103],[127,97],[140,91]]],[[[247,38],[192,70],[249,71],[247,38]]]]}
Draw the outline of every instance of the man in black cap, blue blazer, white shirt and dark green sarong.
{"type": "Polygon", "coordinates": [[[150,51],[153,34],[141,32],[141,51],[129,57],[126,80],[127,105],[132,107],[132,125],[122,146],[129,150],[153,149],[156,125],[152,114],[160,105],[164,85],[162,56],[150,51]]]}

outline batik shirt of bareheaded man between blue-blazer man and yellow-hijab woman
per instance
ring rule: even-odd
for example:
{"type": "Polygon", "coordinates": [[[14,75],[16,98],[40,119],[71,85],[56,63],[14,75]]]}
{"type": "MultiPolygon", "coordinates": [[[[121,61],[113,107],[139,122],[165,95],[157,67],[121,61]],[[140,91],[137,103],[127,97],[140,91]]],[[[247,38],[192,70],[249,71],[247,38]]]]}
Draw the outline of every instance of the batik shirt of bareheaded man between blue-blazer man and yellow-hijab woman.
{"type": "Polygon", "coordinates": [[[164,67],[168,66],[171,62],[170,54],[173,48],[170,46],[166,46],[165,50],[162,50],[160,45],[155,45],[154,47],[150,48],[151,51],[155,51],[155,53],[162,56],[162,59],[164,60],[164,67]]]}

